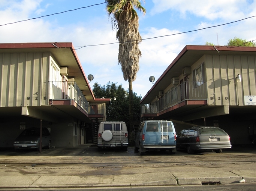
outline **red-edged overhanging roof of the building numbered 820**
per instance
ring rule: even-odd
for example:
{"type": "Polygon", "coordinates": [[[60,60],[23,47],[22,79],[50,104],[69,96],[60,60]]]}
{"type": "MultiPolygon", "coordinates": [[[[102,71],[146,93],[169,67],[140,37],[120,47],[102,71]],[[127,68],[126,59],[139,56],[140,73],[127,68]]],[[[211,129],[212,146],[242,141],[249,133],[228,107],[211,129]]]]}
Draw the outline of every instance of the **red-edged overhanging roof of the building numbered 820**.
{"type": "Polygon", "coordinates": [[[170,81],[174,77],[181,75],[183,68],[192,66],[205,54],[240,54],[240,55],[256,55],[256,47],[228,47],[228,46],[198,46],[186,45],[178,56],[172,61],[168,68],[163,72],[153,87],[142,98],[140,103],[150,103],[159,91],[165,90],[170,85],[170,81]]]}

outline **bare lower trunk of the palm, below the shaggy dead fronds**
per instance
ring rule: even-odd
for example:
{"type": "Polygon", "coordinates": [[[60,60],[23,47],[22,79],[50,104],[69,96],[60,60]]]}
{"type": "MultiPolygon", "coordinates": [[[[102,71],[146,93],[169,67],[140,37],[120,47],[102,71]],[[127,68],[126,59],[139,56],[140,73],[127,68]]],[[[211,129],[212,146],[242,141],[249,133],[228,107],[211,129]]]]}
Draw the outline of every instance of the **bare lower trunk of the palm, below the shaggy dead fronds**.
{"type": "Polygon", "coordinates": [[[132,80],[129,78],[129,143],[133,144],[134,136],[133,136],[133,91],[132,91],[132,80]]]}

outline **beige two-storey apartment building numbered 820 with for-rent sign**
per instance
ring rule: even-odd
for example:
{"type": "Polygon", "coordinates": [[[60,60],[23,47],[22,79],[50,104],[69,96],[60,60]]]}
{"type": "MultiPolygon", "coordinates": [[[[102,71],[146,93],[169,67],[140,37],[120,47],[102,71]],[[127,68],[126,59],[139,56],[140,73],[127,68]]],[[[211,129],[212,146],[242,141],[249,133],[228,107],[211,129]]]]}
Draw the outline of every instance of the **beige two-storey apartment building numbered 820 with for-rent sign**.
{"type": "Polygon", "coordinates": [[[172,120],[177,133],[219,126],[232,145],[256,137],[256,47],[187,45],[153,83],[142,119],[172,120]]]}

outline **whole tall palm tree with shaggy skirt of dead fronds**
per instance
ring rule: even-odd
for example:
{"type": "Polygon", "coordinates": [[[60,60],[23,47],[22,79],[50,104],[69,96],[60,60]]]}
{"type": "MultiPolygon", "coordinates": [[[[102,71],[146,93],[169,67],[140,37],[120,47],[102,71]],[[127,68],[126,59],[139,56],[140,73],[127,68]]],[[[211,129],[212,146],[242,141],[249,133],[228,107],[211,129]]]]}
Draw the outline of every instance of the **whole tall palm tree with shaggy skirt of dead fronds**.
{"type": "MultiPolygon", "coordinates": [[[[145,3],[145,0],[142,0],[145,3]]],[[[139,16],[134,9],[146,13],[140,0],[106,0],[106,10],[112,19],[113,29],[117,29],[119,41],[118,65],[121,65],[124,80],[129,82],[129,127],[130,136],[133,129],[133,90],[132,82],[135,81],[139,70],[139,43],[142,38],[139,34],[139,16]]]]}

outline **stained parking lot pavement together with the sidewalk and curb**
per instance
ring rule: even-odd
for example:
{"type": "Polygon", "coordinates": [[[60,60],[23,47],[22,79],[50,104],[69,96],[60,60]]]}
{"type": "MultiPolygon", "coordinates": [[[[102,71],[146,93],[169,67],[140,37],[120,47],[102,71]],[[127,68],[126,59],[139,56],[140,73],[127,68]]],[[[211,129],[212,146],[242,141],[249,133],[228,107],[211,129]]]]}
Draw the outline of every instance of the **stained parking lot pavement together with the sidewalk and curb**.
{"type": "Polygon", "coordinates": [[[222,153],[188,154],[177,150],[97,151],[95,145],[0,151],[1,187],[101,187],[129,185],[201,185],[256,181],[256,148],[239,146],[222,153]]]}

